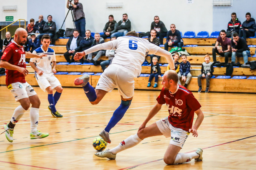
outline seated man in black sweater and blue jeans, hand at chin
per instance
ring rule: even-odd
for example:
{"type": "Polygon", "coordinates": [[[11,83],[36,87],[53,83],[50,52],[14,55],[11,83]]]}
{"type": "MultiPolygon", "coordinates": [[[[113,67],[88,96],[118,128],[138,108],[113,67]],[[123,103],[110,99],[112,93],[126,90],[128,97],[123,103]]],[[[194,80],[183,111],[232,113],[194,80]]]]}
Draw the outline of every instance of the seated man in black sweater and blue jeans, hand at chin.
{"type": "Polygon", "coordinates": [[[232,63],[236,62],[236,56],[240,57],[243,56],[244,64],[242,64],[242,67],[250,67],[249,64],[246,64],[248,62],[248,57],[251,56],[250,54],[250,48],[247,46],[246,40],[243,38],[240,38],[237,33],[233,34],[233,41],[231,42],[232,45],[232,57],[231,61],[232,63]]]}

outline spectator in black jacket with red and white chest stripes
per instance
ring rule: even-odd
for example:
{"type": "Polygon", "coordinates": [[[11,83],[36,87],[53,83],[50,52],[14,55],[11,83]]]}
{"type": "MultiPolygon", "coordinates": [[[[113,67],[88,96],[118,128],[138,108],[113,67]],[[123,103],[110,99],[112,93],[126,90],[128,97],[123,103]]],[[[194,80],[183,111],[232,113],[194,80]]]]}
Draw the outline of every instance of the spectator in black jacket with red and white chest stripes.
{"type": "Polygon", "coordinates": [[[231,14],[231,20],[228,22],[228,29],[227,29],[227,36],[226,37],[231,37],[233,38],[234,33],[238,33],[240,29],[242,28],[242,23],[241,21],[238,20],[237,14],[232,13],[231,14]]]}

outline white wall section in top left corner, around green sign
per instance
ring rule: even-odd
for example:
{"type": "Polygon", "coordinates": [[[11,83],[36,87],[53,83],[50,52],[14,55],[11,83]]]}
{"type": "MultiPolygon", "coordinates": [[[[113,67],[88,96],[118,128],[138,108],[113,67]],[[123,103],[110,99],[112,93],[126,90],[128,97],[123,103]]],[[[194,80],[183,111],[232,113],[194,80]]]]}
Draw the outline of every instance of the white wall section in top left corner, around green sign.
{"type": "Polygon", "coordinates": [[[13,16],[13,21],[27,19],[27,0],[0,0],[0,21],[5,21],[6,16],[13,16]],[[3,5],[17,5],[17,11],[3,11],[3,5]]]}

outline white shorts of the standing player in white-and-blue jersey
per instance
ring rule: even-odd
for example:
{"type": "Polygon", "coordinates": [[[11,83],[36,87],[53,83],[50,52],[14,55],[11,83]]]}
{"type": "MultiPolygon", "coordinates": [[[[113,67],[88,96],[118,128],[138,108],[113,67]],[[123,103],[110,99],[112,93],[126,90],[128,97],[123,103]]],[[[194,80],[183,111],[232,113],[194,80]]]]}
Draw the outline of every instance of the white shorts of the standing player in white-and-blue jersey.
{"type": "Polygon", "coordinates": [[[41,77],[37,80],[39,87],[45,92],[46,88],[51,86],[53,89],[57,86],[61,86],[59,80],[52,75],[51,77],[41,77]]]}

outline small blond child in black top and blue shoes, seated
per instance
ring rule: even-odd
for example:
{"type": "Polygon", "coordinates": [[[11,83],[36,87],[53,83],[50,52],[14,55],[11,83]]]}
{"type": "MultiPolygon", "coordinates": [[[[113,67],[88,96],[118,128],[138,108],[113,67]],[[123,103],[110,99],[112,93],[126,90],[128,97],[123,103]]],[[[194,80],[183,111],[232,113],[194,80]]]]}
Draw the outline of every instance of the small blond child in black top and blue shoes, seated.
{"type": "Polygon", "coordinates": [[[151,81],[155,77],[155,85],[153,86],[153,88],[157,88],[158,77],[161,77],[162,73],[161,73],[160,66],[157,63],[158,62],[157,57],[153,57],[152,62],[153,63],[151,64],[150,76],[149,76],[147,87],[151,86],[151,81]]]}

